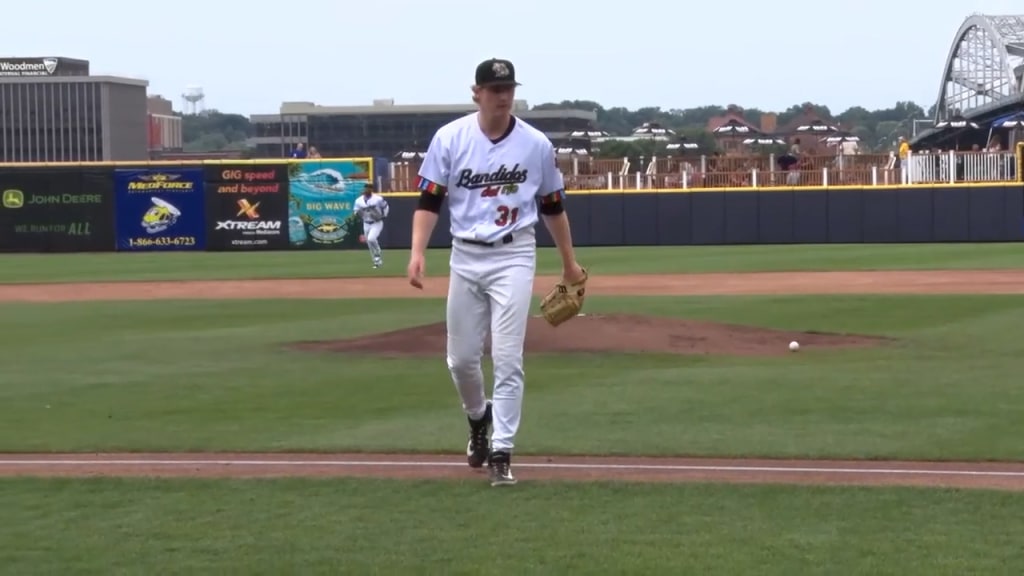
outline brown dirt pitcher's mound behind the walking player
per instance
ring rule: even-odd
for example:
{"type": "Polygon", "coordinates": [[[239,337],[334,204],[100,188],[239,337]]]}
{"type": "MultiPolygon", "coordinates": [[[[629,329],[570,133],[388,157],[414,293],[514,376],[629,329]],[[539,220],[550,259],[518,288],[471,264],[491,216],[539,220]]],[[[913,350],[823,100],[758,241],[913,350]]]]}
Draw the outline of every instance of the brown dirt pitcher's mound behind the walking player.
{"type": "MultiPolygon", "coordinates": [[[[785,332],[733,324],[693,322],[630,315],[582,315],[552,328],[543,318],[529,319],[526,354],[654,353],[686,355],[774,356],[801,351],[877,345],[885,338],[820,332],[785,332]]],[[[385,356],[443,355],[444,323],[351,338],[298,342],[293,347],[385,356]]],[[[489,339],[485,342],[489,349],[489,339]]]]}

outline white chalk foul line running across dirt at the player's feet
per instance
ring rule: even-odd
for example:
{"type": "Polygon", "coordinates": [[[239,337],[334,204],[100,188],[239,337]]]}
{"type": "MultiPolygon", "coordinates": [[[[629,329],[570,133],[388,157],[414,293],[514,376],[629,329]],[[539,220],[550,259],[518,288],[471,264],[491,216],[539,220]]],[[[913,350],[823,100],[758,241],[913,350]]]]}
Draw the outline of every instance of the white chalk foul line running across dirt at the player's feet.
{"type": "MultiPolygon", "coordinates": [[[[402,461],[402,460],[3,460],[4,466],[415,466],[415,467],[464,467],[465,462],[445,461],[402,461]]],[[[519,468],[583,469],[583,470],[650,470],[650,471],[711,471],[711,472],[771,472],[771,474],[839,474],[839,475],[894,475],[894,476],[967,476],[994,478],[1024,478],[1024,471],[1010,470],[964,470],[964,469],[912,469],[912,468],[829,468],[829,467],[787,467],[787,466],[743,466],[743,465],[697,465],[697,464],[602,464],[602,463],[516,463],[519,468]]]]}

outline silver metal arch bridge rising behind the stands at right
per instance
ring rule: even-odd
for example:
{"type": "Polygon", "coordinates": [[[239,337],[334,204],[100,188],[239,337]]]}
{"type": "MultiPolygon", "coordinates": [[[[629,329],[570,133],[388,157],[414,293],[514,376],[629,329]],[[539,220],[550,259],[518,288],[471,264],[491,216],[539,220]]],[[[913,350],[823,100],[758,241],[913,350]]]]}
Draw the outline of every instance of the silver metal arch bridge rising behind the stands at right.
{"type": "MultiPolygon", "coordinates": [[[[968,16],[953,38],[935,122],[963,116],[989,123],[1024,110],[1024,15],[968,16]]],[[[916,142],[934,141],[939,132],[921,133],[916,142]]]]}

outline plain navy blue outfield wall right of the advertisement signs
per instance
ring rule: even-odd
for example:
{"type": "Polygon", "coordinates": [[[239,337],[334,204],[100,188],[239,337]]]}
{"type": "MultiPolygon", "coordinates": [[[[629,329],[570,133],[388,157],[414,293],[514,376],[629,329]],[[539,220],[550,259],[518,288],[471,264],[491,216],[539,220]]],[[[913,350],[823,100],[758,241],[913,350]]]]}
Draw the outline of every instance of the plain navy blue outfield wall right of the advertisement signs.
{"type": "MultiPolygon", "coordinates": [[[[415,198],[392,198],[382,240],[408,248],[415,198]]],[[[1014,242],[1024,186],[572,194],[579,246],[1014,242]]],[[[538,241],[551,246],[544,225],[538,241]]],[[[442,212],[431,247],[452,242],[442,212]]]]}

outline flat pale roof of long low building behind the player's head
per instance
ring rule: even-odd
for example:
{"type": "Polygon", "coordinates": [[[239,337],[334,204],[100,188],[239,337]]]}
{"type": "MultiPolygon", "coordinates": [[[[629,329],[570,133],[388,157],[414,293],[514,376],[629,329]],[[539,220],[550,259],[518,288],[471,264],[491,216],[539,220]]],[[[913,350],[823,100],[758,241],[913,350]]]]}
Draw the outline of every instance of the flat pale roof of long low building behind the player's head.
{"type": "MultiPolygon", "coordinates": [[[[279,114],[256,114],[251,120],[272,121],[279,116],[357,116],[382,114],[469,114],[476,105],[466,104],[417,104],[396,105],[391,98],[378,99],[370,106],[323,106],[309,101],[290,101],[281,105],[279,114]]],[[[597,113],[588,110],[529,110],[526,100],[515,100],[512,112],[523,118],[583,118],[596,121],[597,113]]]]}

